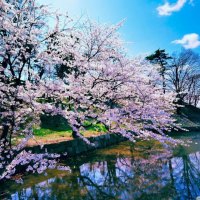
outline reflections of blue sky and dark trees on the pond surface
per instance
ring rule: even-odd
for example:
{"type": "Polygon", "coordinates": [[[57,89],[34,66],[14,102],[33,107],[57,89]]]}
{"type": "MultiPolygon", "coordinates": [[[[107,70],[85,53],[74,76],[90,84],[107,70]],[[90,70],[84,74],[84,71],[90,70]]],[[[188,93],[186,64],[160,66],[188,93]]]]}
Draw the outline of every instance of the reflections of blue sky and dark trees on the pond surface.
{"type": "Polygon", "coordinates": [[[71,163],[69,174],[22,189],[13,199],[195,199],[200,195],[200,152],[171,157],[108,155],[71,163]]]}

